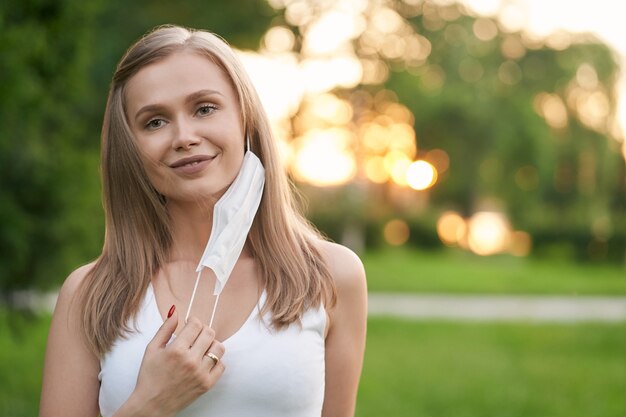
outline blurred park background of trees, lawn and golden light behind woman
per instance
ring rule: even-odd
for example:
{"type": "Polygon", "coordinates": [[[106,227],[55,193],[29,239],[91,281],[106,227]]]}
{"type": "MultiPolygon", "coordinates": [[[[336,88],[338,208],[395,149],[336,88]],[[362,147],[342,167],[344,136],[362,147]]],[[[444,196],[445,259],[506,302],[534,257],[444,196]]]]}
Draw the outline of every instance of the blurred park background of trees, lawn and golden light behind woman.
{"type": "MultiPolygon", "coordinates": [[[[497,3],[2,2],[0,415],[37,412],[49,312],[25,294],[101,249],[108,83],[159,24],[241,52],[307,216],[372,294],[623,297],[623,58],[497,3]]],[[[626,322],[372,315],[357,416],[385,414],[623,416],[626,322]]]]}

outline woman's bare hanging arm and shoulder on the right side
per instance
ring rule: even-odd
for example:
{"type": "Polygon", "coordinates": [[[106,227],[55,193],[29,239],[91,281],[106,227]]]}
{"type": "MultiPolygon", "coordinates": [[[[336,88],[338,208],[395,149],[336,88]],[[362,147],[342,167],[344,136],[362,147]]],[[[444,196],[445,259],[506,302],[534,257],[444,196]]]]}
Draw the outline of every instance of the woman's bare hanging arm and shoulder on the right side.
{"type": "Polygon", "coordinates": [[[361,260],[349,249],[324,243],[323,253],[337,286],[326,336],[323,417],[354,416],[367,326],[367,286],[361,260]]]}

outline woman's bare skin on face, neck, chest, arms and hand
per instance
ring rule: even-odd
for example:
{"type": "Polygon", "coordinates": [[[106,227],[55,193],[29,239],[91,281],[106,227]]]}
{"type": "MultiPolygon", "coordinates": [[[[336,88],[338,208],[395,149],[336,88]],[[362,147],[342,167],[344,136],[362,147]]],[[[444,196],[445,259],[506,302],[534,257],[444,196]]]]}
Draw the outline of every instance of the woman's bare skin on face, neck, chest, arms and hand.
{"type": "MultiPolygon", "coordinates": [[[[210,60],[190,52],[140,70],[127,85],[126,101],[149,178],[167,198],[173,246],[169,262],[152,280],[164,323],[146,349],[135,391],[115,415],[172,416],[225,372],[228,364],[215,364],[205,353],[223,356],[220,341],[243,325],[261,292],[258,265],[244,248],[220,296],[213,328],[206,324],[212,302],[195,303],[184,321],[195,266],[210,235],[213,205],[241,167],[243,127],[228,78],[210,60]],[[191,169],[176,167],[189,157],[203,162],[191,169]],[[167,318],[172,305],[176,309],[167,318]],[[177,337],[166,346],[172,334],[177,337]]],[[[338,290],[337,304],[328,310],[323,416],[351,416],[365,346],[365,273],[350,250],[321,241],[319,248],[338,290]]],[[[42,417],[99,415],[99,359],[83,341],[75,302],[90,268],[74,271],[59,294],[46,351],[42,417]]],[[[197,298],[212,300],[215,277],[209,272],[201,282],[197,298]]]]}

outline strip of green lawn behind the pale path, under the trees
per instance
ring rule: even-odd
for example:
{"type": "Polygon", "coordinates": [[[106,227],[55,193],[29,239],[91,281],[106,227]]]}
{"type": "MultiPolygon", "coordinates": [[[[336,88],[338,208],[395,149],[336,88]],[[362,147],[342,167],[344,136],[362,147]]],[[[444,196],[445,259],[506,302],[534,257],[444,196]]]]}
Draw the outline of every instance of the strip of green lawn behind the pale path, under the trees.
{"type": "Polygon", "coordinates": [[[626,267],[465,252],[389,249],[362,255],[370,291],[625,295],[626,267]]]}

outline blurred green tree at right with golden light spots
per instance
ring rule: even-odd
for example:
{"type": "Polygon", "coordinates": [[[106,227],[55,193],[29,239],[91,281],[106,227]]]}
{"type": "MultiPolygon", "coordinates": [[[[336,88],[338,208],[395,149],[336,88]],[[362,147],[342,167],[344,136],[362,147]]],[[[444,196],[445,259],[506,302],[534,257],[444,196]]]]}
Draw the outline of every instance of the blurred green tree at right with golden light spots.
{"type": "Polygon", "coordinates": [[[410,21],[431,42],[430,56],[413,71],[396,63],[386,86],[415,114],[420,146],[450,156],[450,170],[431,191],[433,206],[466,215],[502,209],[517,228],[581,240],[572,243],[582,252],[594,240],[623,235],[616,197],[624,159],[609,130],[614,53],[567,34],[551,47],[551,39],[502,32],[458,6],[425,3],[410,21]],[[433,71],[440,77],[434,85],[433,71]]]}

